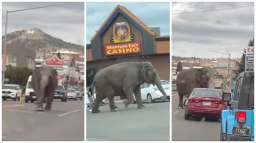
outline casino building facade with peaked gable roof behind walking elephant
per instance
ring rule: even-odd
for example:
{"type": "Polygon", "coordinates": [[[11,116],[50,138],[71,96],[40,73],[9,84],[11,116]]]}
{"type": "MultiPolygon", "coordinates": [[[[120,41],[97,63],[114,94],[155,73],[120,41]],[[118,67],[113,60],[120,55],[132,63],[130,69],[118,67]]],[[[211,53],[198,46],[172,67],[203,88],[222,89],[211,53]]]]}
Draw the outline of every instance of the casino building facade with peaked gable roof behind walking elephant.
{"type": "Polygon", "coordinates": [[[170,80],[170,35],[153,29],[117,5],[86,45],[86,85],[98,70],[127,61],[150,61],[161,80],[170,80]]]}

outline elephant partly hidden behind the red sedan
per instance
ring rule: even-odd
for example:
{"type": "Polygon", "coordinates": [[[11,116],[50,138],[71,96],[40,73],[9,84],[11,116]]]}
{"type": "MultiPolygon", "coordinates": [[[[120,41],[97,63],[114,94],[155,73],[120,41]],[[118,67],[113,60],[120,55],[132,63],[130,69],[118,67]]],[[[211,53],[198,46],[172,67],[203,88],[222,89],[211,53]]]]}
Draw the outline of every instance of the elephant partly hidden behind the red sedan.
{"type": "Polygon", "coordinates": [[[211,68],[191,68],[182,70],[176,78],[179,95],[178,108],[183,107],[183,96],[190,95],[194,88],[214,88],[211,68]]]}

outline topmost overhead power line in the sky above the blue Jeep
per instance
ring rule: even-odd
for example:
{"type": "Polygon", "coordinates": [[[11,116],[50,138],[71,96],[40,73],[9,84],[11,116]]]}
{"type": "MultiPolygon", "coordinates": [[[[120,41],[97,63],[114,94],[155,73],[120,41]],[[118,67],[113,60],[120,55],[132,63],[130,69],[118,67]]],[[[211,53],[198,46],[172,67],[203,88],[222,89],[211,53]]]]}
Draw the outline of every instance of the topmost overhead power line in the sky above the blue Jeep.
{"type": "MultiPolygon", "coordinates": [[[[191,14],[191,13],[200,13],[200,12],[213,12],[213,11],[223,11],[223,10],[231,10],[231,9],[240,9],[240,8],[248,8],[248,7],[252,7],[254,5],[245,5],[245,6],[237,6],[237,7],[233,7],[233,8],[221,8],[221,9],[203,9],[203,10],[184,10],[182,12],[173,12],[173,15],[183,15],[183,14],[191,14]]],[[[218,8],[218,7],[215,7],[218,8]]]]}

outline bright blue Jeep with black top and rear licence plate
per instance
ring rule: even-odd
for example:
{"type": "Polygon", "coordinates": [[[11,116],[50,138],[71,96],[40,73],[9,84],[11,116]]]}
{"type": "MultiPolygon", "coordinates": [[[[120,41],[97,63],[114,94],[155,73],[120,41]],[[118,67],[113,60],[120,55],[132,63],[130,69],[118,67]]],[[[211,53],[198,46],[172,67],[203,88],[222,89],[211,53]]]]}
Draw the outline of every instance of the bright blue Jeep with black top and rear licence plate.
{"type": "Polygon", "coordinates": [[[254,141],[254,72],[238,75],[234,91],[223,93],[230,108],[221,113],[221,141],[254,141]]]}

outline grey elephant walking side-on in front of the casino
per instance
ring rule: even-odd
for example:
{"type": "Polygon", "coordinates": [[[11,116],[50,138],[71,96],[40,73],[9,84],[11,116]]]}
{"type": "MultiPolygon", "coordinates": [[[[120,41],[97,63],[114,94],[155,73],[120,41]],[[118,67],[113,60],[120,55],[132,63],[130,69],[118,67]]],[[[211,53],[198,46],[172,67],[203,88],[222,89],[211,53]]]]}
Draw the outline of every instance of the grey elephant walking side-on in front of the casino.
{"type": "MultiPolygon", "coordinates": [[[[166,99],[166,93],[161,86],[157,70],[151,62],[123,62],[99,70],[91,85],[96,89],[95,104],[92,113],[98,113],[100,102],[106,97],[109,99],[111,111],[116,111],[114,96],[126,96],[125,108],[133,102],[133,94],[138,104],[138,109],[145,108],[142,104],[140,85],[143,83],[156,84],[159,91],[166,99]]],[[[93,90],[92,90],[93,92],[93,90]]]]}

